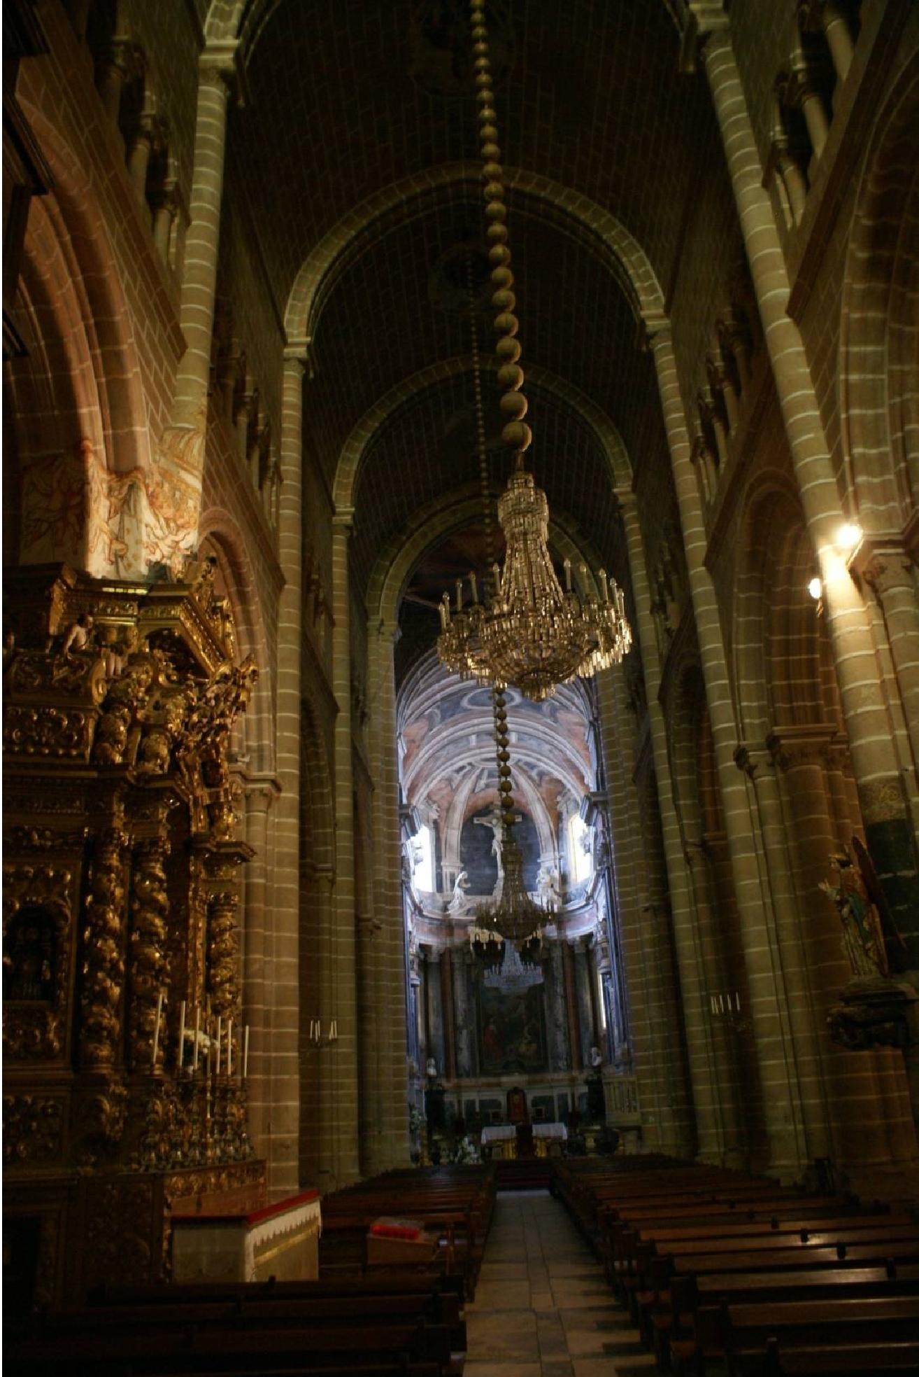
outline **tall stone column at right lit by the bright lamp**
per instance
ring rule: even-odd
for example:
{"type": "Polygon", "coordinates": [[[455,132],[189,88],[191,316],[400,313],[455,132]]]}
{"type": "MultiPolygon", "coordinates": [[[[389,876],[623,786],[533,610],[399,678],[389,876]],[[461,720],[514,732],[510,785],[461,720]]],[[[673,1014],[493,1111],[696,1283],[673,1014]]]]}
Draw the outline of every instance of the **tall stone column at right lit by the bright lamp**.
{"type": "Polygon", "coordinates": [[[762,167],[735,62],[731,36],[707,36],[703,62],[724,139],[737,215],[772,361],[795,478],[823,584],[846,735],[858,788],[865,840],[887,902],[919,965],[919,873],[887,706],[878,682],[867,609],[838,544],[845,512],[827,450],[801,332],[788,315],[788,274],[762,187],[762,167]]]}

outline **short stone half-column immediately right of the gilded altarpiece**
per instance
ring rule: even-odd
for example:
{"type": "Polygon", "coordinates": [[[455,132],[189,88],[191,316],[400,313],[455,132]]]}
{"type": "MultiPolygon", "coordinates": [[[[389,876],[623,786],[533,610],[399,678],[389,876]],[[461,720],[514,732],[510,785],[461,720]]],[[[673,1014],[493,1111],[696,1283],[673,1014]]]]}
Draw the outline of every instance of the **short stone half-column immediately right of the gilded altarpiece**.
{"type": "MultiPolygon", "coordinates": [[[[271,1172],[289,1175],[297,1183],[296,1157],[290,1144],[281,1162],[271,1151],[271,943],[274,913],[268,905],[268,876],[275,870],[274,829],[268,825],[272,804],[278,800],[274,778],[246,782],[246,841],[253,856],[245,869],[245,913],[242,921],[242,1024],[249,1027],[249,1136],[259,1157],[266,1157],[271,1172]],[[289,1169],[294,1168],[293,1172],[289,1169]]],[[[241,1038],[242,1042],[242,1038],[241,1038]]],[[[296,1085],[296,1081],[294,1081],[296,1085]]],[[[272,1184],[279,1184],[278,1181],[272,1184]]]]}

